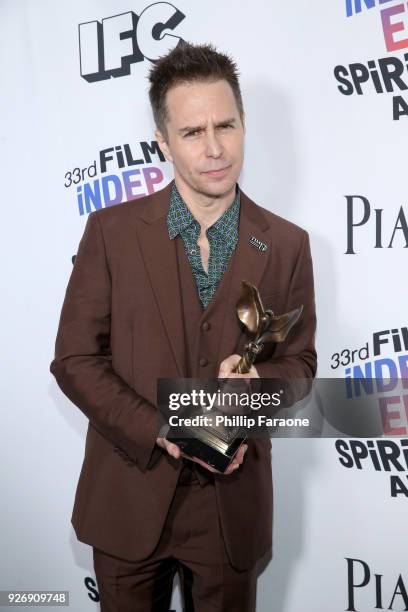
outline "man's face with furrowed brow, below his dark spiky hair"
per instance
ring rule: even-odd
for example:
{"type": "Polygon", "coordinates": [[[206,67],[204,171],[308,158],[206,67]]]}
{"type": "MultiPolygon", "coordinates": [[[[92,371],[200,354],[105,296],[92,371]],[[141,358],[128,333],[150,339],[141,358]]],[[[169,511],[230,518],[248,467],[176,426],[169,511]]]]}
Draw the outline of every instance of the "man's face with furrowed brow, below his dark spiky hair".
{"type": "Polygon", "coordinates": [[[167,138],[156,132],[179,185],[210,198],[235,189],[244,156],[244,126],[229,83],[186,83],[166,96],[167,138]]]}

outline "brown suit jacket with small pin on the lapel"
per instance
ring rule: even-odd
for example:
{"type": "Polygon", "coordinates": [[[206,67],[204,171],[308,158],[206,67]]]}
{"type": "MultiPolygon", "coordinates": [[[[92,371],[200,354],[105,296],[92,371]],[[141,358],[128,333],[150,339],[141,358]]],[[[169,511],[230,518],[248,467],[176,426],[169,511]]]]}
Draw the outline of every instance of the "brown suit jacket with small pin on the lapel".
{"type": "MultiPolygon", "coordinates": [[[[72,513],[77,537],[133,561],[154,550],[181,466],[155,445],[156,381],[186,376],[176,248],[166,225],[170,189],[171,183],[151,196],[89,215],[50,365],[62,391],[89,419],[72,513]]],[[[203,376],[216,377],[219,363],[241,354],[248,340],[234,316],[246,279],[275,314],[304,305],[287,340],[261,354],[260,376],[314,377],[316,317],[307,232],[241,191],[234,257],[228,298],[213,312],[224,317],[218,361],[203,376]],[[251,236],[267,250],[250,244],[251,236]]],[[[243,465],[230,476],[217,475],[215,487],[231,563],[248,569],[272,544],[270,441],[250,440],[243,465]]]]}

